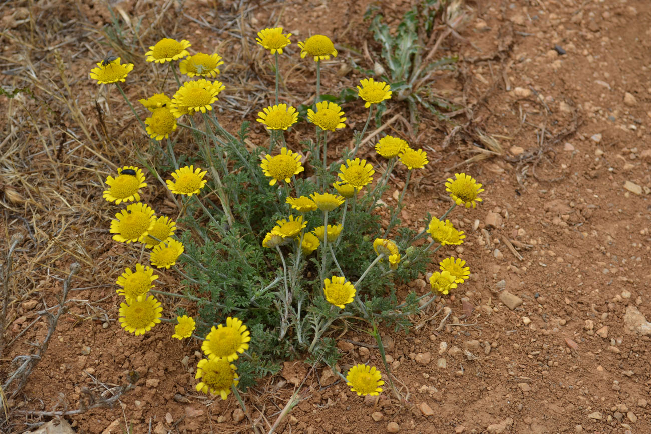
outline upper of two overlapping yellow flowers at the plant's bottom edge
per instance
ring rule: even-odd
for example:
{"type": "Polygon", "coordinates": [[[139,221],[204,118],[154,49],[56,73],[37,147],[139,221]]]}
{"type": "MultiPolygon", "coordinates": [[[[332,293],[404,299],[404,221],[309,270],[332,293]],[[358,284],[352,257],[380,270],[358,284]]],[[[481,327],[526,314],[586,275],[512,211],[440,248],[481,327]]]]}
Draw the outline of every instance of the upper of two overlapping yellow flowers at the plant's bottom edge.
{"type": "Polygon", "coordinates": [[[247,342],[251,334],[246,326],[237,318],[226,319],[226,326],[219,324],[212,327],[206,340],[201,344],[201,351],[210,359],[224,358],[229,362],[237,360],[244,351],[249,349],[247,342]]]}

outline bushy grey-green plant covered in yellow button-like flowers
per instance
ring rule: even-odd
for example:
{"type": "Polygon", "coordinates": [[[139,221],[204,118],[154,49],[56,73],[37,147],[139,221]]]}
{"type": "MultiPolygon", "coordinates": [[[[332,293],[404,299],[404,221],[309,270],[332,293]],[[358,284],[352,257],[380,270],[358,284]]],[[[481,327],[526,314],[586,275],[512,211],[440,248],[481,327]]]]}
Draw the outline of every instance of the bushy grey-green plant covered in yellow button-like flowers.
{"type": "MultiPolygon", "coordinates": [[[[475,208],[483,191],[471,176],[456,174],[445,184],[452,202],[440,219],[426,216],[428,228],[419,234],[399,227],[411,172],[428,164],[427,155],[398,137],[382,137],[375,149],[387,167],[372,186],[380,167],[356,154],[376,105],[393,94],[387,83],[372,78],[357,86],[368,116],[354,134],[355,146],[340,160],[328,152],[328,139],[347,128],[347,119],[344,107],[319,98],[320,62],[337,55],[333,42],[321,34],[298,43],[301,57],[316,62],[316,98],[307,109],[314,129],[301,129],[301,142],[289,141],[285,131],[302,128],[296,109],[279,103],[279,57],[290,36],[282,27],[258,33],[258,44],[273,55],[276,87],[275,103],[256,118],[269,140],[256,144],[249,140],[249,120],[229,131],[215,114],[219,95],[227,92],[213,80],[223,63],[217,53],[191,55],[189,41],[171,38],[151,46],[146,61],[169,68],[176,86],[140,100],[144,120],[120,84],[133,64],[122,64],[118,57],[98,62],[90,72],[98,83],[115,83],[152,144],[139,164],[126,162],[106,179],[104,198],[119,207],[111,221],[113,239],[150,251],[151,266],[133,264],[117,278],[117,293],[124,299],[120,324],[138,336],[161,321],[175,323],[172,338],[201,342],[205,358],[197,365],[196,389],[223,399],[232,391],[242,405],[238,388],[278,372],[283,360],[308,357],[334,367],[340,357],[335,325],[368,328],[384,359],[378,324],[406,327],[410,314],[468,278],[465,261],[446,258],[430,278],[431,293],[410,293],[402,304],[396,300],[396,282],[424,273],[441,247],[464,242],[464,233],[445,217],[457,204],[475,208]],[[191,152],[176,153],[180,141],[187,141],[191,152]],[[382,222],[374,210],[383,203],[381,193],[398,162],[408,169],[404,188],[389,221],[382,222]],[[178,215],[157,215],[142,201],[148,183],[140,166],[167,187],[178,215]],[[429,242],[423,243],[427,235],[429,242]],[[158,275],[152,267],[156,273],[174,270],[182,286],[154,289],[158,275]],[[182,303],[171,311],[156,297],[182,303]]],[[[358,364],[345,377],[339,375],[358,395],[382,391],[374,367],[358,364]]]]}

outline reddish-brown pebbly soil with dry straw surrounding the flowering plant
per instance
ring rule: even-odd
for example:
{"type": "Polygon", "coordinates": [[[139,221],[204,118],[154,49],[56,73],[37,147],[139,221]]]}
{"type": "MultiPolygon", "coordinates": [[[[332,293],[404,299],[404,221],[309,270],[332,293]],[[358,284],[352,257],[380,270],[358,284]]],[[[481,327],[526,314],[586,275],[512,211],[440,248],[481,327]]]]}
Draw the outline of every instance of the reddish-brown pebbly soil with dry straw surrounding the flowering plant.
{"type": "MultiPolygon", "coordinates": [[[[241,40],[253,40],[262,27],[283,25],[294,40],[331,36],[339,56],[326,62],[324,88],[353,87],[363,77],[336,74],[350,57],[366,68],[378,60],[363,22],[367,1],[197,1],[183,10],[165,2],[157,17],[161,3],[124,1],[115,10],[131,26],[143,17],[146,46],[163,34],[191,39],[197,49],[216,46],[227,62],[220,79],[239,83],[233,94],[273,87],[264,53],[247,53],[253,46],[241,40]],[[361,54],[347,46],[361,47],[361,54]],[[238,62],[229,53],[239,53],[238,62]]],[[[396,22],[409,7],[378,4],[396,22]]],[[[102,182],[130,163],[146,137],[119,94],[98,94],[88,79],[105,51],[97,29],[111,20],[107,8],[94,1],[3,2],[0,80],[7,91],[31,93],[0,96],[3,251],[13,234],[25,236],[14,256],[2,383],[15,368],[10,361],[46,335],[47,321],[36,312],[56,303],[71,262],[82,267],[73,280],[75,301],[48,351],[8,402],[5,432],[79,409],[90,396],[83,388],[98,400],[98,382],[126,385],[137,372],[135,389],[112,409],[64,418],[77,433],[245,433],[252,422],[267,432],[307,376],[301,402],[277,432],[382,433],[397,426],[406,433],[651,433],[651,325],[644,329],[636,316],[651,319],[651,3],[491,0],[465,8],[464,30],[441,45],[441,55],[458,54],[460,61],[432,80],[437,94],[465,109],[451,122],[422,112],[416,137],[392,126],[430,153],[426,175],[408,192],[413,206],[403,217],[411,226],[421,226],[426,211],[447,209],[443,180],[455,171],[486,189],[478,210],[457,208],[453,215],[467,234],[456,249],[472,271],[465,292],[413,318],[407,335],[384,332],[408,403],[388,390],[363,400],[327,369],[297,361],[244,394],[243,417],[232,397],[212,401],[194,391],[198,344],[171,340],[165,325],[134,337],[116,321],[113,282],[125,250],[110,240],[102,182]],[[503,152],[464,162],[486,149],[482,133],[503,152]],[[452,309],[447,321],[433,318],[445,306],[452,309]]],[[[285,67],[292,98],[309,100],[312,64],[285,67]]],[[[127,92],[142,98],[146,85],[130,83],[127,92]]],[[[255,120],[269,92],[261,94],[232,115],[234,124],[255,120]]],[[[346,107],[358,129],[361,107],[346,107]]],[[[260,126],[253,129],[254,139],[262,137],[260,126]]],[[[350,137],[343,135],[340,146],[350,137]]],[[[372,154],[368,148],[365,155],[372,154]]],[[[427,290],[422,279],[411,286],[427,290]]],[[[380,366],[367,334],[344,338],[340,366],[380,366]]]]}

